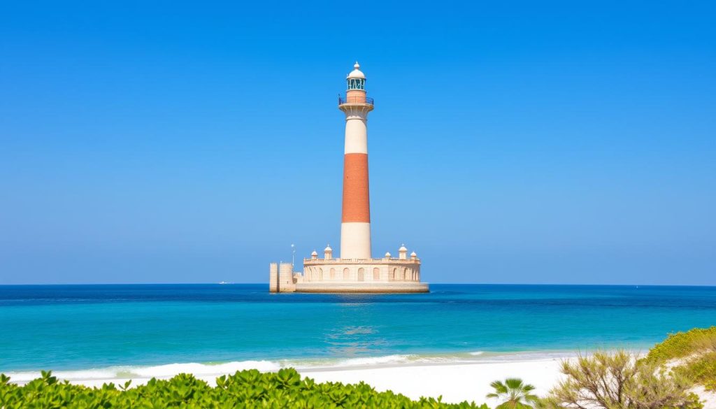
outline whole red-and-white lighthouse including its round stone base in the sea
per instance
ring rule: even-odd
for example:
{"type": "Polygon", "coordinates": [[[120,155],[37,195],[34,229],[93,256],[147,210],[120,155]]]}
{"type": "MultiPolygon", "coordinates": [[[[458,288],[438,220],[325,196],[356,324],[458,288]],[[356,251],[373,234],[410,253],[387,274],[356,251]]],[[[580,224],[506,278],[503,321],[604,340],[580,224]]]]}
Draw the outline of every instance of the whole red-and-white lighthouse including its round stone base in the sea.
{"type": "Polygon", "coordinates": [[[400,246],[397,258],[390,252],[372,258],[368,112],[374,104],[366,95],[365,75],[358,62],[346,77],[346,83],[345,94],[338,97],[338,108],[345,114],[340,254],[334,257],[328,245],[321,259],[314,250],[310,258],[304,259],[304,271],[294,271],[293,263],[269,264],[269,291],[429,292],[428,284],[420,281],[421,261],[415,251],[408,258],[407,247],[400,246]]]}

